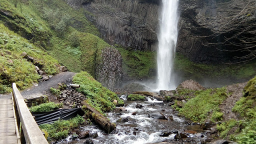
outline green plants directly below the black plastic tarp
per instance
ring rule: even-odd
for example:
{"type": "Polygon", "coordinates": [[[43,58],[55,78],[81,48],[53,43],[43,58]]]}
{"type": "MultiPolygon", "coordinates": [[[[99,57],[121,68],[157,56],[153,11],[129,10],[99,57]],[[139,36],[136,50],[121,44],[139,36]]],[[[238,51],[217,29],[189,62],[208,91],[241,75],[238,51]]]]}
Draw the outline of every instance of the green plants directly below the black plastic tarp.
{"type": "Polygon", "coordinates": [[[67,137],[71,129],[78,127],[79,124],[84,123],[84,121],[83,117],[77,115],[69,120],[57,120],[51,124],[41,124],[39,127],[47,132],[47,140],[51,141],[67,137]]]}

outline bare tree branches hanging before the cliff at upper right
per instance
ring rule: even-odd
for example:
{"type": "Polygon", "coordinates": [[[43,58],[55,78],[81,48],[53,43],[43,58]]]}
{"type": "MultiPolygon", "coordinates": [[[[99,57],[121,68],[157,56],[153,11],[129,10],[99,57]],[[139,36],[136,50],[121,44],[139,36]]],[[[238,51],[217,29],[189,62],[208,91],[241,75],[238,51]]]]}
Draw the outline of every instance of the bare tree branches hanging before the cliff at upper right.
{"type": "Polygon", "coordinates": [[[202,44],[221,44],[225,48],[220,50],[240,52],[242,55],[234,57],[239,59],[238,62],[256,58],[256,0],[229,0],[216,3],[216,7],[216,15],[201,16],[199,23],[202,28],[211,29],[212,34],[194,37],[221,37],[202,44]]]}

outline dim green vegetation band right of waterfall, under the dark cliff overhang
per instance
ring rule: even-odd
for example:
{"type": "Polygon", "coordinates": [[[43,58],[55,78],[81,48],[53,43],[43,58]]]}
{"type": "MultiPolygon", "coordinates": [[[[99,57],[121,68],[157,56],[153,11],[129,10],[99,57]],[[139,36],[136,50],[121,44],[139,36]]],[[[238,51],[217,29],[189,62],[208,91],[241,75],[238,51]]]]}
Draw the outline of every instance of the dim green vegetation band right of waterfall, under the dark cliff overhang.
{"type": "Polygon", "coordinates": [[[192,76],[194,79],[202,77],[243,79],[256,75],[255,61],[244,64],[202,64],[194,63],[180,53],[175,55],[174,70],[182,71],[184,76],[190,78],[192,76]]]}

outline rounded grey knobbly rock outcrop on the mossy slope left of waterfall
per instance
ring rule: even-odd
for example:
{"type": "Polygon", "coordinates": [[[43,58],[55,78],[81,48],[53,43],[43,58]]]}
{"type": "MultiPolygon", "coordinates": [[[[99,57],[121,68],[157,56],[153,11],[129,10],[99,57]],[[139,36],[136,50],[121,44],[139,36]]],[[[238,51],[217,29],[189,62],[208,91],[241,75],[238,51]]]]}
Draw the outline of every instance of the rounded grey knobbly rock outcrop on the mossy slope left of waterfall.
{"type": "Polygon", "coordinates": [[[106,47],[101,51],[101,61],[95,72],[97,79],[108,88],[117,87],[122,82],[122,57],[120,52],[112,47],[106,47]]]}

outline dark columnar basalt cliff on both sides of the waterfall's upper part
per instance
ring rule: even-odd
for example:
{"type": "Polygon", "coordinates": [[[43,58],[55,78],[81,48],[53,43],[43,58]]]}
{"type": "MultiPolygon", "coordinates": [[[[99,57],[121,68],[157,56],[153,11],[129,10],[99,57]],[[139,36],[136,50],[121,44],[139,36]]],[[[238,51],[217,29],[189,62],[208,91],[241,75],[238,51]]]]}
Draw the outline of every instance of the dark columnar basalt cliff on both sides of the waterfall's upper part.
{"type": "MultiPolygon", "coordinates": [[[[97,25],[102,38],[107,42],[121,44],[134,50],[157,48],[161,0],[66,0],[66,2],[73,7],[80,6],[91,12],[86,15],[87,18],[97,25]]],[[[233,31],[217,36],[215,34],[214,30],[221,26],[220,22],[217,22],[221,16],[233,14],[229,12],[229,15],[226,15],[223,12],[223,4],[219,4],[221,2],[224,0],[179,0],[180,17],[176,50],[191,61],[219,63],[219,61],[232,60],[233,56],[241,56],[242,52],[223,50],[235,48],[234,45],[226,42],[208,44],[224,41],[224,37],[233,34],[233,31]],[[214,36],[209,36],[212,34],[214,36]]]]}

